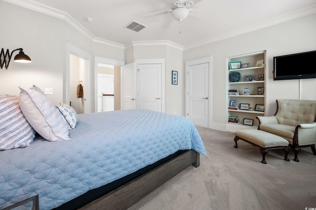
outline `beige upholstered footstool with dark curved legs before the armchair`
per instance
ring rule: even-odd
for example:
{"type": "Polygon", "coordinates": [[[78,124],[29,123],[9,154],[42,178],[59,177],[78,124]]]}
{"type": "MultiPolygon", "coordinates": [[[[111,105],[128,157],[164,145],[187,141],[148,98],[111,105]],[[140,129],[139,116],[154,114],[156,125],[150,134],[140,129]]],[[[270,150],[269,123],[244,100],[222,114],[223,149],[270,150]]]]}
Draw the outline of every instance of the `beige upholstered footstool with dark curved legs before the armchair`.
{"type": "Polygon", "coordinates": [[[287,148],[288,141],[276,136],[274,134],[262,131],[262,130],[254,130],[254,129],[246,129],[246,130],[238,130],[235,132],[235,148],[238,148],[237,146],[237,140],[241,139],[242,141],[245,141],[255,147],[258,147],[260,149],[260,152],[262,153],[262,160],[261,162],[266,164],[266,154],[268,154],[269,150],[275,150],[275,149],[283,149],[285,151],[284,160],[290,161],[287,158],[287,155],[289,153],[289,150],[287,148]]]}

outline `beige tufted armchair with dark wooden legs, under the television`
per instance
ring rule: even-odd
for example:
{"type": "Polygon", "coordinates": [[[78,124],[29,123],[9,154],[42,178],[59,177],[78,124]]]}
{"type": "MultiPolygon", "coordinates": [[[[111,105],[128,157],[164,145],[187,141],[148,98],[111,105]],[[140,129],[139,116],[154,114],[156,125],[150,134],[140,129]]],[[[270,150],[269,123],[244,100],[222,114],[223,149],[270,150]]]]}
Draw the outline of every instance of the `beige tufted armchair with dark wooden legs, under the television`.
{"type": "Polygon", "coordinates": [[[276,114],[270,117],[257,116],[258,130],[273,133],[286,139],[294,151],[294,161],[301,148],[311,147],[316,155],[316,101],[276,100],[276,114]]]}

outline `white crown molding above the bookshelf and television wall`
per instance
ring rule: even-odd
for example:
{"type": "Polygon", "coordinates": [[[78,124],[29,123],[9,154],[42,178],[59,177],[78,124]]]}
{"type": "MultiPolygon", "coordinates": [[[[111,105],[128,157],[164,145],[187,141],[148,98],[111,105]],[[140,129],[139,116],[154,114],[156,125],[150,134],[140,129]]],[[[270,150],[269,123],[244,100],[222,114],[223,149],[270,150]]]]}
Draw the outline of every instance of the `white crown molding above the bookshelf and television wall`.
{"type": "Polygon", "coordinates": [[[306,7],[306,8],[300,9],[300,10],[296,10],[294,12],[287,13],[285,15],[278,16],[276,18],[271,18],[271,19],[268,19],[266,21],[262,21],[261,23],[258,23],[258,24],[244,27],[244,28],[241,28],[241,29],[229,32],[229,33],[223,33],[219,36],[214,36],[214,37],[205,39],[203,41],[184,46],[183,50],[189,50],[192,48],[200,47],[200,46],[203,46],[205,44],[210,44],[213,42],[217,42],[217,41],[220,41],[223,39],[231,38],[231,37],[234,37],[234,36],[237,36],[240,34],[244,34],[244,33],[248,33],[251,31],[264,29],[264,28],[267,28],[270,26],[274,26],[274,25],[277,25],[277,24],[280,24],[280,23],[283,23],[286,21],[290,21],[290,20],[293,20],[296,18],[304,17],[307,15],[315,14],[315,13],[316,13],[316,5],[313,5],[313,6],[306,7]]]}

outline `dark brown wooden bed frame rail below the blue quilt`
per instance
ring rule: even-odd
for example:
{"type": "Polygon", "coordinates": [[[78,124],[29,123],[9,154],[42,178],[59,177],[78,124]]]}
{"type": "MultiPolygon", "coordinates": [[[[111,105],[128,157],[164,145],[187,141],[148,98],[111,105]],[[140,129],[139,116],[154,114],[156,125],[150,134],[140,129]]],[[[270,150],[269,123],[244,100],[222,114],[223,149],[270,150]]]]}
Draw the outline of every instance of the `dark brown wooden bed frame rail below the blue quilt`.
{"type": "Polygon", "coordinates": [[[79,208],[79,210],[125,210],[191,164],[195,167],[199,166],[199,153],[195,150],[185,151],[144,175],[79,208]]]}

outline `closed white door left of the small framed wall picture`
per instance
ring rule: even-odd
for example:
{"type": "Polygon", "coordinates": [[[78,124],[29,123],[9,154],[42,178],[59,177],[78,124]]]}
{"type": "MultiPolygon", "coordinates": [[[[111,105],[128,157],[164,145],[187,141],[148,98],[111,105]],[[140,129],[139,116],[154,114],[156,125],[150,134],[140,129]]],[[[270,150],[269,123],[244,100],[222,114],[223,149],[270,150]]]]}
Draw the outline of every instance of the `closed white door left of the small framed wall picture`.
{"type": "Polygon", "coordinates": [[[138,64],[138,109],[161,112],[161,64],[138,64]]]}

